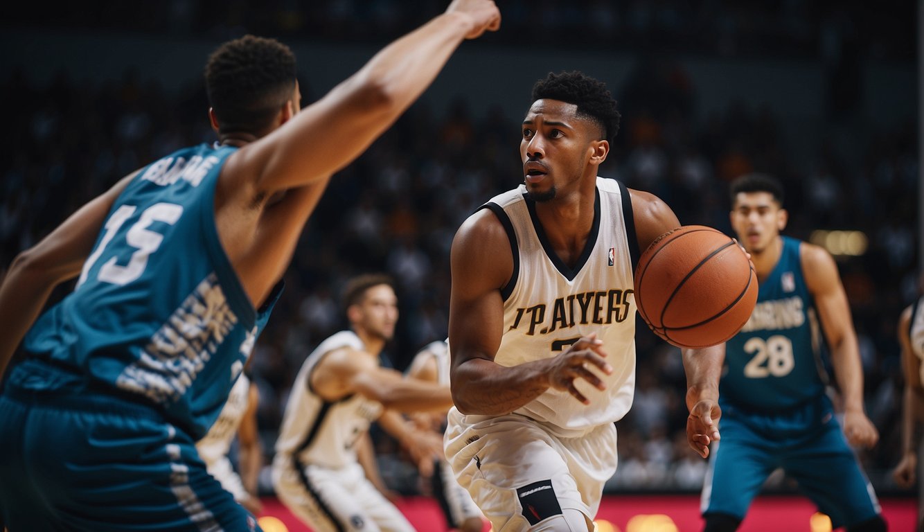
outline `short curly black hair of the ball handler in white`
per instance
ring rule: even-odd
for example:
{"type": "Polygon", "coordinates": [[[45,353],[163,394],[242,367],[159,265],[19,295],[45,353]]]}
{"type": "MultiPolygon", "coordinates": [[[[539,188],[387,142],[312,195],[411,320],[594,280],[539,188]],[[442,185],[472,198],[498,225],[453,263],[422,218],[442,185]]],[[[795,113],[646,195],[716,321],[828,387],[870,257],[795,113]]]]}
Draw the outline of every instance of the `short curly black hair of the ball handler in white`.
{"type": "Polygon", "coordinates": [[[606,84],[572,70],[555,74],[532,86],[532,100],[559,100],[577,105],[577,115],[585,116],[603,128],[603,139],[613,142],[619,132],[619,111],[606,84]]]}

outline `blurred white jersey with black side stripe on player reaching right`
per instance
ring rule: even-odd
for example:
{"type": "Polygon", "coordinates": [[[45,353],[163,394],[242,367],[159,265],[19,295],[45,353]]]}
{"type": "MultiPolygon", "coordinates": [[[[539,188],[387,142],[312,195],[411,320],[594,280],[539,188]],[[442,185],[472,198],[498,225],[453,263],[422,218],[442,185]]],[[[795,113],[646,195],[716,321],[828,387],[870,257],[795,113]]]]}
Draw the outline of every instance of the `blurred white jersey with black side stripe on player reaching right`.
{"type": "Polygon", "coordinates": [[[318,345],[298,370],[276,440],[277,455],[294,455],[302,465],[331,468],[357,462],[356,441],[382,414],[382,404],[359,393],[331,403],[309,384],[311,371],[322,357],[341,347],[365,348],[356,333],[342,331],[318,345]]]}

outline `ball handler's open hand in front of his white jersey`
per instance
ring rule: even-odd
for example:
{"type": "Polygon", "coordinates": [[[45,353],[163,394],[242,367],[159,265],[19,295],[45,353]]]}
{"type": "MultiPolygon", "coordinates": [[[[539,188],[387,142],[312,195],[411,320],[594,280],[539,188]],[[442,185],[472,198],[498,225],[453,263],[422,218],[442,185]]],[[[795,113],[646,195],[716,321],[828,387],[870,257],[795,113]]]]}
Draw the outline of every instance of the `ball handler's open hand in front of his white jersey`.
{"type": "Polygon", "coordinates": [[[603,357],[606,357],[606,352],[603,351],[603,342],[597,339],[596,333],[582,337],[561,355],[547,359],[552,364],[552,368],[547,373],[549,386],[555,390],[571,393],[578,401],[589,405],[588,398],[575,387],[575,381],[583,379],[590,382],[594,388],[604,390],[606,384],[589,369],[589,367],[596,366],[607,375],[613,373],[613,367],[603,360],[603,357]]]}

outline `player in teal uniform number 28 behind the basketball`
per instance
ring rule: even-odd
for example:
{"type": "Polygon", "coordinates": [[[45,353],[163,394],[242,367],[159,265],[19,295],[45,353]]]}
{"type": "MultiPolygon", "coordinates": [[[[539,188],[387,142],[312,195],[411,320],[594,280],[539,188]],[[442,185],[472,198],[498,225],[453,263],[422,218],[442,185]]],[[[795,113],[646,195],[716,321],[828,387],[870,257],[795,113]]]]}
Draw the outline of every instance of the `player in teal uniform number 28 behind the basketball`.
{"type": "Polygon", "coordinates": [[[787,212],[772,177],[739,177],[731,200],[732,227],[751,255],[760,292],[750,320],[725,345],[723,439],[702,492],[705,530],[736,530],[779,467],[834,528],[885,530],[850,448],[874,445],[879,433],[863,409],[857,334],[837,266],[823,248],[780,235],[787,212]],[[826,393],[821,332],[844,399],[843,430],[826,393]]]}

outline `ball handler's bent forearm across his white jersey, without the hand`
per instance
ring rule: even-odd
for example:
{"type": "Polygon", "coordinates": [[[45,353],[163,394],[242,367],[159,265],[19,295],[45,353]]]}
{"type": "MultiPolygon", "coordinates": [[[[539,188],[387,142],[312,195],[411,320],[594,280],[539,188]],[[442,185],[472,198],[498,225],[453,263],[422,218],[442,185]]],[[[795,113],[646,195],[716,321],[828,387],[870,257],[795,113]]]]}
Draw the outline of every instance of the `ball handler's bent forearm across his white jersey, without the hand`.
{"type": "Polygon", "coordinates": [[[470,358],[453,374],[453,398],[463,414],[509,414],[549,389],[541,360],[505,367],[484,358],[470,358]]]}

